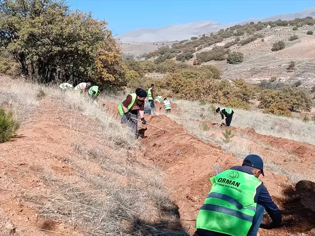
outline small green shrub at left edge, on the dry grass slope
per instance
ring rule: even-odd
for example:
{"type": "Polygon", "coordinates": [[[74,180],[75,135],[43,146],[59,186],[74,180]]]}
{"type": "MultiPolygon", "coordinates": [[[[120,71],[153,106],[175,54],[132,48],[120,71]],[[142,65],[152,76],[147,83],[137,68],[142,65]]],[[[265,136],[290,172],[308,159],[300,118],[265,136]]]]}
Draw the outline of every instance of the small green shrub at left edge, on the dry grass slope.
{"type": "Polygon", "coordinates": [[[14,120],[12,112],[5,112],[0,107],[0,143],[10,141],[19,128],[19,123],[14,120]]]}

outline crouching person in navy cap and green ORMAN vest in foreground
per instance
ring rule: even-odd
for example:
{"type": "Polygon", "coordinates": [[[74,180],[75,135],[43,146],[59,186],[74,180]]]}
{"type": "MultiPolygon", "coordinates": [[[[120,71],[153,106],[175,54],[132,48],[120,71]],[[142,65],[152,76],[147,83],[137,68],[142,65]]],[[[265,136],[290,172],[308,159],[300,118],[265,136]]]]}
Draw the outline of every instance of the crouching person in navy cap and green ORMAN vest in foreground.
{"type": "Polygon", "coordinates": [[[264,211],[278,227],[282,217],[267,188],[258,180],[263,161],[258,155],[245,157],[242,166],[232,167],[210,178],[211,190],[200,208],[195,236],[256,236],[264,211]]]}

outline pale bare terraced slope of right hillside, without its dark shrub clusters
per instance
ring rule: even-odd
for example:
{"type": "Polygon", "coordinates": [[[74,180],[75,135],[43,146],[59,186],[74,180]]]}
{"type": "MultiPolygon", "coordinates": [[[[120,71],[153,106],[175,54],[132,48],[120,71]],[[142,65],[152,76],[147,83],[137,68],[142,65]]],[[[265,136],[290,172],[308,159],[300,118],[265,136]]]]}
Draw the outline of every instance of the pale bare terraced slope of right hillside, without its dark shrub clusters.
{"type": "MultiPolygon", "coordinates": [[[[231,51],[244,53],[244,62],[241,64],[230,65],[226,61],[210,61],[205,64],[219,67],[227,79],[243,78],[248,82],[258,83],[263,79],[269,80],[271,77],[276,77],[282,82],[302,80],[302,86],[312,87],[315,82],[315,37],[306,33],[309,30],[314,31],[315,27],[303,26],[297,31],[292,29],[293,27],[264,29],[260,31],[266,35],[263,42],[257,39],[244,46],[232,46],[231,51]],[[297,35],[299,38],[288,41],[292,35],[297,35]],[[280,40],[285,42],[286,48],[276,52],[271,51],[272,45],[280,40]],[[288,72],[287,67],[291,61],[295,61],[296,69],[288,72]]],[[[241,40],[245,37],[241,37],[241,40]]],[[[217,46],[223,46],[233,40],[235,40],[234,36],[217,46]]],[[[203,51],[212,48],[204,48],[203,51]]],[[[192,64],[195,58],[194,56],[188,63],[192,64]]]]}

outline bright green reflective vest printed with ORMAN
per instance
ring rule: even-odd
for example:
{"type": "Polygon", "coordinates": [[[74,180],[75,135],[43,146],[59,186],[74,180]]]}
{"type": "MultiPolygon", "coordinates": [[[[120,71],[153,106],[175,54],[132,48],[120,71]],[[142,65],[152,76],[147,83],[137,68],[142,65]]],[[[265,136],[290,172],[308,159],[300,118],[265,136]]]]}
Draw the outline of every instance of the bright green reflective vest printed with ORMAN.
{"type": "Polygon", "coordinates": [[[212,187],[196,220],[197,229],[246,236],[253,223],[256,189],[254,175],[227,169],[210,178],[212,187]]]}

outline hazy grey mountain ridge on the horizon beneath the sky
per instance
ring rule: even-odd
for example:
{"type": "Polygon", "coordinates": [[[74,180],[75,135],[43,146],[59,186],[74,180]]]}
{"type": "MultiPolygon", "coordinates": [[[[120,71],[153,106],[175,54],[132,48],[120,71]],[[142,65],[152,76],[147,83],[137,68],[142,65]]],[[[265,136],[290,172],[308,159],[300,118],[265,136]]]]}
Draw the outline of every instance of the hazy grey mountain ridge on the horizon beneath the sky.
{"type": "Polygon", "coordinates": [[[126,42],[157,42],[157,41],[175,41],[190,39],[193,36],[198,36],[201,34],[209,34],[211,32],[219,31],[233,25],[244,25],[250,23],[251,21],[257,23],[258,21],[267,22],[281,20],[293,20],[295,18],[304,17],[315,17],[315,7],[309,9],[292,13],[292,14],[281,14],[266,18],[250,18],[238,23],[228,23],[221,24],[214,21],[198,21],[182,25],[170,25],[164,26],[158,29],[138,29],[129,31],[118,37],[121,41],[126,42]]]}

